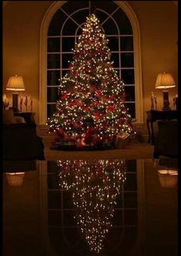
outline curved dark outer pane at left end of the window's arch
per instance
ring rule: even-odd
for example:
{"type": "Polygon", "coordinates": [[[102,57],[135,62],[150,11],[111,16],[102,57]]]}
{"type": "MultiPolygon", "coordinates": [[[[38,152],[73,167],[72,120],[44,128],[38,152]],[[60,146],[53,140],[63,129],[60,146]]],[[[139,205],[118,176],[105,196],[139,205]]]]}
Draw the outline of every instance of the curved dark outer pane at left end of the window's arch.
{"type": "Polygon", "coordinates": [[[48,35],[60,35],[61,27],[66,18],[67,15],[65,15],[64,12],[62,12],[60,9],[55,12],[48,27],[48,35]]]}

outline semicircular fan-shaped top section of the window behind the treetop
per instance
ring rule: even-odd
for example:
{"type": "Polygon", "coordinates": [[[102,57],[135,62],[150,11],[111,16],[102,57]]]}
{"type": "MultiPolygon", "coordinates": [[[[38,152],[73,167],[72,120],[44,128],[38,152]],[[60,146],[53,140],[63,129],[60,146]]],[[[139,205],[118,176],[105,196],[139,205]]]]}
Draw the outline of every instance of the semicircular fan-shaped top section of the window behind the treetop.
{"type": "MultiPolygon", "coordinates": [[[[114,2],[107,1],[106,8],[100,1],[94,1],[97,7],[97,18],[107,35],[132,35],[133,30],[128,19],[127,14],[117,6],[114,2]]],[[[48,35],[80,35],[82,26],[85,23],[85,18],[89,15],[89,2],[88,1],[75,1],[74,7],[72,2],[66,2],[51,19],[48,26],[48,35]],[[87,6],[86,6],[87,5],[87,6]],[[81,8],[78,8],[81,7],[81,8]],[[86,7],[84,7],[86,6],[86,7]],[[84,7],[84,8],[82,8],[84,7]],[[72,12],[70,12],[70,10],[72,12]],[[78,29],[81,28],[81,29],[78,29]],[[77,33],[76,33],[77,32],[77,33]]]]}

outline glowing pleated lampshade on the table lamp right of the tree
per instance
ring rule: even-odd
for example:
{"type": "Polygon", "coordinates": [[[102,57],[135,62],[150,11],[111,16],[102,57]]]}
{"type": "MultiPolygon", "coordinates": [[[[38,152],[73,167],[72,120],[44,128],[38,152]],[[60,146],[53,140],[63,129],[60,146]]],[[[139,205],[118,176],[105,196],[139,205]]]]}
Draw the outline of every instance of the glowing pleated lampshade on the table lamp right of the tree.
{"type": "Polygon", "coordinates": [[[166,89],[175,86],[176,83],[171,74],[165,72],[158,74],[155,85],[156,89],[166,89]]]}

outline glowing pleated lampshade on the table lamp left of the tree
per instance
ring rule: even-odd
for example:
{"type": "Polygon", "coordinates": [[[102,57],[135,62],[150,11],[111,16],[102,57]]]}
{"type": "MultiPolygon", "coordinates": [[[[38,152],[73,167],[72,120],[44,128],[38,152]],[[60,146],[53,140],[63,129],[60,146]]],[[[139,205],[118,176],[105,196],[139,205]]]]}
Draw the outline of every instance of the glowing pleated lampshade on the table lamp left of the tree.
{"type": "Polygon", "coordinates": [[[10,76],[6,89],[9,91],[25,91],[25,85],[22,76],[10,76]]]}

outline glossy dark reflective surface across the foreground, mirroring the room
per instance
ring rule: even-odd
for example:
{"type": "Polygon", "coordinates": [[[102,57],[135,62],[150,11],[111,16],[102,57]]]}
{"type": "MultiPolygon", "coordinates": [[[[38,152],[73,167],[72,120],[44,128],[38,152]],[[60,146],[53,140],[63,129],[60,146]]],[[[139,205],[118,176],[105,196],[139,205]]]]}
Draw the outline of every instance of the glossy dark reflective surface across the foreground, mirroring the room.
{"type": "Polygon", "coordinates": [[[3,256],[174,256],[177,160],[3,163],[3,256]]]}

